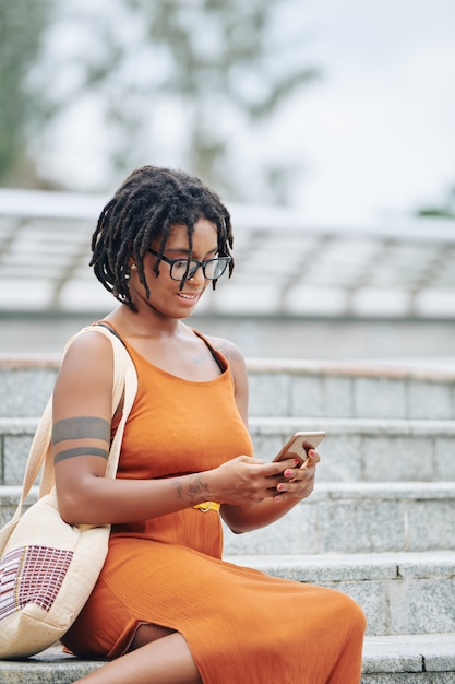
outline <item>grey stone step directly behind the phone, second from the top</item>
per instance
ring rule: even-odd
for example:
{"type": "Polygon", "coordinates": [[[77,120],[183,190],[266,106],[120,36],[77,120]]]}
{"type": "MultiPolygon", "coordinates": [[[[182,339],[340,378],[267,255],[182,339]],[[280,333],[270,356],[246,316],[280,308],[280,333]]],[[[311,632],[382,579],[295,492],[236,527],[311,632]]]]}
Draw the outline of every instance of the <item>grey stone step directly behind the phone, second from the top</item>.
{"type": "MultiPolygon", "coordinates": [[[[0,484],[20,484],[38,420],[0,417],[0,484]]],[[[455,421],[252,417],[265,461],[296,431],[324,429],[319,482],[455,481],[455,421]]]]}

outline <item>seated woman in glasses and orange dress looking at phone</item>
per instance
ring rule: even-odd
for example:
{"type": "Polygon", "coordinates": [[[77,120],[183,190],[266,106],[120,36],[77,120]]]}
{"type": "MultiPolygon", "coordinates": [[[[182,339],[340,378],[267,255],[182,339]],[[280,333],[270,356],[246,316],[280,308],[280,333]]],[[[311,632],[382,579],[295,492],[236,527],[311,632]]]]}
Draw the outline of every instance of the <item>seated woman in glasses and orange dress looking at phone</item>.
{"type": "Polygon", "coordinates": [[[104,477],[112,352],[79,337],[55,388],[53,451],[69,523],[111,524],[95,589],[63,642],[108,664],[93,684],[356,684],[364,617],[345,594],[223,562],[236,533],[268,524],[313,488],[319,456],[253,458],[244,361],[182,319],[232,269],[229,213],[199,179],[146,166],[105,207],[95,274],[120,302],[104,323],[125,344],[139,390],[116,480],[104,477]]]}

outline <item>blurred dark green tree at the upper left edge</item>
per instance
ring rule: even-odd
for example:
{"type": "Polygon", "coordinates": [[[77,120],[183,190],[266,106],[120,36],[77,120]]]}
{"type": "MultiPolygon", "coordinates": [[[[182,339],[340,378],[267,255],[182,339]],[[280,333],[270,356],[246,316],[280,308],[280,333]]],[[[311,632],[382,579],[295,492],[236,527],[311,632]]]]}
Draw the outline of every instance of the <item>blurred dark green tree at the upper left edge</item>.
{"type": "Polygon", "coordinates": [[[0,182],[32,173],[27,140],[49,116],[46,94],[33,79],[53,0],[0,0],[0,182]]]}

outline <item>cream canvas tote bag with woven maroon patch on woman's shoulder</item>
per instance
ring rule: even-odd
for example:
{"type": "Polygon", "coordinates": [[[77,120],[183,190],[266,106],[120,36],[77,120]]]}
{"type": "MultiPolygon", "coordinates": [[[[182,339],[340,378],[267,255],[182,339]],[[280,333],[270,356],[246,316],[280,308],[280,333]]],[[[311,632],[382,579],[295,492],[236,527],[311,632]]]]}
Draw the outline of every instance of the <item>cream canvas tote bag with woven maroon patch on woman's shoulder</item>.
{"type": "MultiPolygon", "coordinates": [[[[137,377],[121,340],[100,325],[81,330],[65,351],[88,330],[112,343],[112,415],[124,390],[123,413],[106,467],[106,476],[115,477],[137,377]]],[[[110,526],[71,526],[61,519],[50,445],[51,400],[31,447],[17,510],[0,531],[0,659],[33,656],[62,637],[87,601],[107,555],[110,526]],[[41,467],[39,498],[21,517],[41,467]]]]}

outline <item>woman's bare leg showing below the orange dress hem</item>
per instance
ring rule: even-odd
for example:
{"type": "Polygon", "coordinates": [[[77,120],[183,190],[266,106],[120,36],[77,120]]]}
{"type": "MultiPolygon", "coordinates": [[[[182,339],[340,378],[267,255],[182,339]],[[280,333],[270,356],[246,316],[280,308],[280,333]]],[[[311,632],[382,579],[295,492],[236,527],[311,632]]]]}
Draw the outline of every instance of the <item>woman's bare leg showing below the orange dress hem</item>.
{"type": "Polygon", "coordinates": [[[187,641],[181,634],[142,625],[130,652],[79,680],[87,684],[201,684],[187,641]],[[158,637],[159,632],[161,636],[158,637]],[[166,633],[166,636],[163,636],[166,633]]]}

